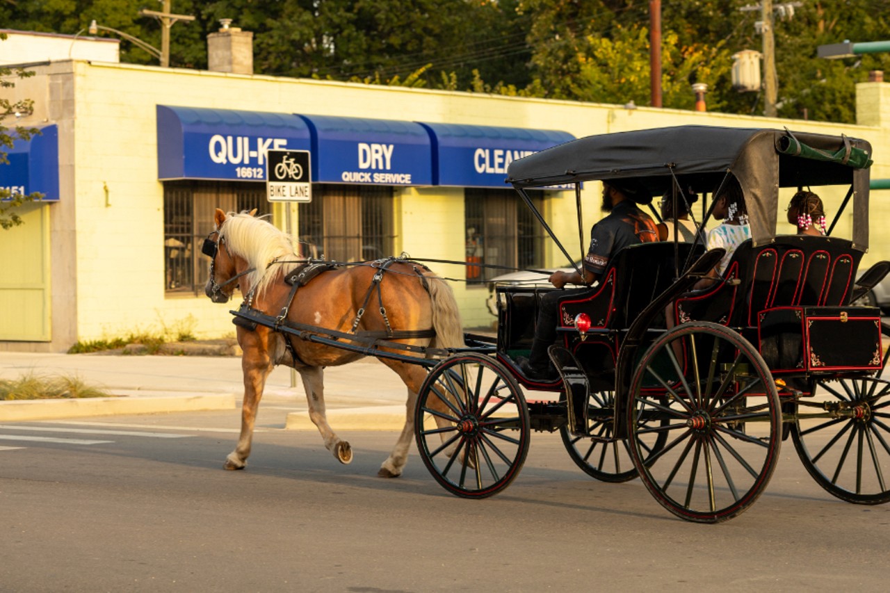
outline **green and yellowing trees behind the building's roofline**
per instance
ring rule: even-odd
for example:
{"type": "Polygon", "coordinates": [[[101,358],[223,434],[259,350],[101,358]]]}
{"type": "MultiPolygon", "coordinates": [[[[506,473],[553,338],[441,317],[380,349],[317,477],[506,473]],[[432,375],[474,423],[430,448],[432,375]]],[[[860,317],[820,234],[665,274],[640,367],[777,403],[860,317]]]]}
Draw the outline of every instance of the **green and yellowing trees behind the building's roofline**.
{"type": "MultiPolygon", "coordinates": [[[[144,0],[0,2],[4,27],[75,34],[97,20],[160,45],[144,0]]],[[[708,109],[758,113],[758,93],[732,89],[732,54],[760,51],[751,0],[662,0],[662,97],[691,109],[693,82],[708,109]]],[[[775,3],[780,4],[780,3],[775,3]]],[[[206,36],[219,19],[254,32],[258,74],[352,80],[509,96],[649,103],[649,3],[644,0],[174,0],[193,22],[171,29],[171,65],[206,68],[206,36]]],[[[844,61],[818,45],[890,39],[890,0],[805,0],[776,20],[779,113],[853,121],[854,85],[890,55],[844,61]]],[[[112,34],[100,33],[114,37],[112,34]]],[[[121,43],[121,60],[156,63],[121,43]]]]}

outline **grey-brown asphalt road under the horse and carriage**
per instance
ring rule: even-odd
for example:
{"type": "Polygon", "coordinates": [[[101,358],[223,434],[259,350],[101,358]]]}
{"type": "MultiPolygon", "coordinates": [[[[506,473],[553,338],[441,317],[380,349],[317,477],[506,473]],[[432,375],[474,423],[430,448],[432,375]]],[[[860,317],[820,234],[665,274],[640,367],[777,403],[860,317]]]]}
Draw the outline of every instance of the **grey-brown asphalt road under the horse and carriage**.
{"type": "Polygon", "coordinates": [[[821,491],[791,443],[752,508],[701,525],[639,481],[588,478],[558,435],[532,435],[506,491],[463,500],[413,446],[405,475],[376,477],[395,433],[341,434],[342,466],[283,415],[261,414],[241,472],[222,469],[234,411],[0,426],[0,590],[887,588],[890,505],[821,491]]]}

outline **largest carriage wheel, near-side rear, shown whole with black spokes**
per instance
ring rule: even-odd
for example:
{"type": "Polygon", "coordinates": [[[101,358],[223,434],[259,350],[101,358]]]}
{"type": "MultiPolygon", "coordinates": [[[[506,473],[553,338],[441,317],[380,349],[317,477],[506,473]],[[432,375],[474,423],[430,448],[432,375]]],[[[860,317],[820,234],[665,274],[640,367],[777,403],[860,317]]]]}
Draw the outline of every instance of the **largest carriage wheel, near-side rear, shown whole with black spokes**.
{"type": "Polygon", "coordinates": [[[643,354],[627,404],[635,466],[676,516],[699,523],[737,516],[773,475],[779,395],[760,353],[732,329],[697,321],[665,332],[643,354]]]}

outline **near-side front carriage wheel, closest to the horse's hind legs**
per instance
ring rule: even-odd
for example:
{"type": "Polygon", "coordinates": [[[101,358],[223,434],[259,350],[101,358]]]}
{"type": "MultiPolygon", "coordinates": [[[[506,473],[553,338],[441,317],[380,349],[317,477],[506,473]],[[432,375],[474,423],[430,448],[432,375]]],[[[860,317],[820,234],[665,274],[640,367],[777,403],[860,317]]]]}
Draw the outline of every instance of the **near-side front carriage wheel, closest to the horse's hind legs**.
{"type": "Polygon", "coordinates": [[[502,364],[456,354],[427,375],[415,410],[417,450],[436,482],[480,499],[513,482],[529,452],[529,407],[502,364]]]}

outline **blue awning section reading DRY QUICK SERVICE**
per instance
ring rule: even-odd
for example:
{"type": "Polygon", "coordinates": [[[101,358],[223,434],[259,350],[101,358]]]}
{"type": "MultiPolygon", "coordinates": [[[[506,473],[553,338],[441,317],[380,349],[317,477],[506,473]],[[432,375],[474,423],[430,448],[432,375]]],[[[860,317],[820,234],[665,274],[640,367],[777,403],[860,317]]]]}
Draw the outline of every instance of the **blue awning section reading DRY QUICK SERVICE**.
{"type": "Polygon", "coordinates": [[[432,148],[423,126],[394,119],[304,115],[312,129],[312,181],[431,185],[432,148]]]}

